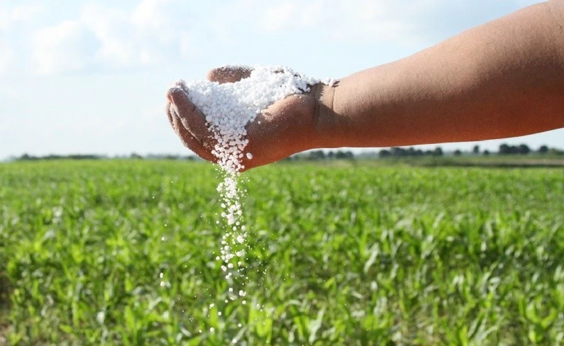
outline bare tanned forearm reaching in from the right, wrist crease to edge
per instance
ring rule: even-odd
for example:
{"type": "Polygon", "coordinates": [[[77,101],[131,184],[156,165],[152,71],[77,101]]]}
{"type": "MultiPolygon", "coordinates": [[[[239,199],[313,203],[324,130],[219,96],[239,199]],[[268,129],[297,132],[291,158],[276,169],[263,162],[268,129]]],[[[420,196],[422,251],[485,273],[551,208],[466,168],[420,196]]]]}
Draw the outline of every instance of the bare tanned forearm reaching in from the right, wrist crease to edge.
{"type": "Polygon", "coordinates": [[[564,127],[563,2],[525,8],[326,87],[320,146],[485,140],[564,127]]]}

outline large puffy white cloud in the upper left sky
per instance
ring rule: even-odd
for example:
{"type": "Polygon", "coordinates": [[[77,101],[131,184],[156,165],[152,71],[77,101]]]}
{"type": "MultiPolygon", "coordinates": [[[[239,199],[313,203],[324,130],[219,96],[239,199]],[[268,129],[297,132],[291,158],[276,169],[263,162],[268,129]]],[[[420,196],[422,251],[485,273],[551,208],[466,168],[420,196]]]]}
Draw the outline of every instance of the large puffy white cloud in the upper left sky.
{"type": "Polygon", "coordinates": [[[132,68],[189,55],[192,40],[182,8],[180,0],[144,0],[133,10],[86,4],[78,19],[37,31],[37,71],[132,68]]]}

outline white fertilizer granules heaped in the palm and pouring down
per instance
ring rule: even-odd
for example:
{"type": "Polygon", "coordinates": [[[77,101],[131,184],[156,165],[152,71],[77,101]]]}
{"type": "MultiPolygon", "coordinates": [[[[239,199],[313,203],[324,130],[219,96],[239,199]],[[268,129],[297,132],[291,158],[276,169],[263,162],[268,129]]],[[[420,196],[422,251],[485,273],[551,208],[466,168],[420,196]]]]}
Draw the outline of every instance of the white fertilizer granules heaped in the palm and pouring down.
{"type": "MultiPolygon", "coordinates": [[[[308,78],[300,73],[295,73],[286,66],[225,66],[226,68],[252,69],[249,78],[239,82],[219,84],[207,80],[185,83],[180,80],[173,86],[181,88],[205,115],[208,129],[216,140],[212,154],[216,156],[217,163],[224,172],[223,181],[217,190],[221,195],[221,217],[225,219],[228,230],[221,241],[221,268],[225,278],[230,281],[230,299],[237,296],[244,297],[246,291],[233,289],[233,276],[241,276],[243,246],[247,237],[246,226],[242,221],[241,191],[237,181],[239,171],[244,168],[241,163],[243,155],[248,159],[253,154],[245,152],[248,144],[246,138],[246,125],[253,122],[259,113],[277,100],[282,100],[289,95],[309,91],[309,86],[320,80],[308,78]],[[235,274],[234,274],[235,273],[235,274]]],[[[332,86],[334,80],[325,80],[325,84],[332,86]]],[[[219,221],[217,221],[219,224],[219,221]]],[[[243,300],[243,304],[245,304],[243,300]]]]}

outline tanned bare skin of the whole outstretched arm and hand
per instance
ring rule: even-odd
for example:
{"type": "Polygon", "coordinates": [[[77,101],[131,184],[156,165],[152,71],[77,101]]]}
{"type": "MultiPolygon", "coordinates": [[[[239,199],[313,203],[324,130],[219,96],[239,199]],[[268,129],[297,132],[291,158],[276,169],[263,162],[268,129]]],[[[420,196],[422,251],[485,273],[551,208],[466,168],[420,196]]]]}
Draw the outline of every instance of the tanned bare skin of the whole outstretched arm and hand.
{"type": "MultiPolygon", "coordinates": [[[[219,68],[214,82],[250,70],[219,68]]],[[[166,113],[182,143],[216,161],[205,117],[180,89],[166,113]]],[[[277,101],[247,127],[248,170],[307,149],[488,140],[564,127],[564,0],[529,6],[396,62],[277,101]],[[259,124],[258,121],[261,123],[259,124]]]]}

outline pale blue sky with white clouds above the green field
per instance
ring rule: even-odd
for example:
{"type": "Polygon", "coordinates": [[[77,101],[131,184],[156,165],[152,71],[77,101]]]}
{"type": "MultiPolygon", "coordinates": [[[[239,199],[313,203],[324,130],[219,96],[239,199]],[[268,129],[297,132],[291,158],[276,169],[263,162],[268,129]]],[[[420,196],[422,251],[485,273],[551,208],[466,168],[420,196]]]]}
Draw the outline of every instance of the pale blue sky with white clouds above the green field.
{"type": "MultiPolygon", "coordinates": [[[[163,111],[179,78],[223,64],[341,78],[535,2],[0,0],[0,159],[190,154],[163,111]]],[[[564,148],[564,129],[441,147],[501,143],[564,148]]]]}

